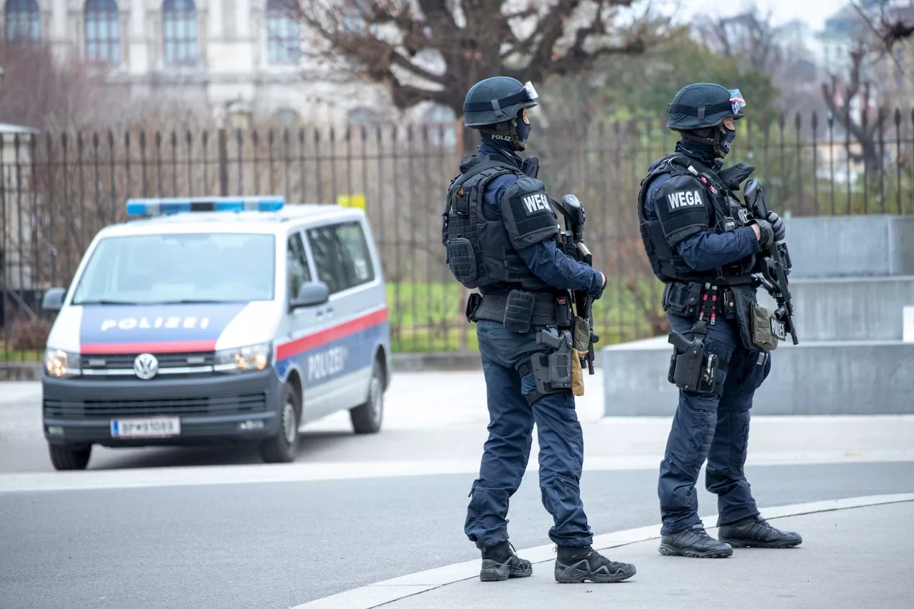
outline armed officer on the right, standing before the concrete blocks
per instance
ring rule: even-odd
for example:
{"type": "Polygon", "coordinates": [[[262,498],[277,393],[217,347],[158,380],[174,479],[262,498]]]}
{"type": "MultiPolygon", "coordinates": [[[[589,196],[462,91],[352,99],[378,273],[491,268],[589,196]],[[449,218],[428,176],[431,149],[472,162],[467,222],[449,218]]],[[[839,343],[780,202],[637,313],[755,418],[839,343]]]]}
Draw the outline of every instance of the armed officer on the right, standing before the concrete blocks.
{"type": "MultiPolygon", "coordinates": [[[[761,518],[743,471],[752,396],[771,370],[749,321],[756,301],[756,254],[784,237],[782,220],[752,219],[734,192],[754,167],[722,169],[743,118],[739,90],[707,82],[676,93],[667,127],[682,138],[649,167],[638,196],[644,248],[663,281],[664,310],[675,336],[670,378],[679,404],[660,465],[660,552],[722,558],[733,548],[790,548],[797,533],[761,518]],[[696,341],[691,343],[691,341],[696,341]],[[689,358],[704,353],[701,361],[689,358]],[[695,485],[707,459],[706,486],[717,494],[718,540],[698,518],[695,485]]],[[[762,345],[767,345],[762,341],[762,345]]]]}

